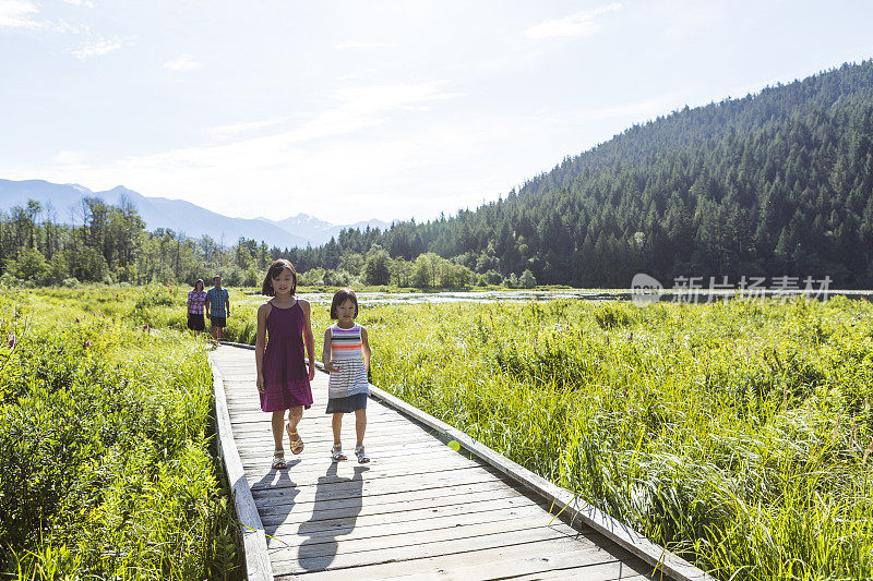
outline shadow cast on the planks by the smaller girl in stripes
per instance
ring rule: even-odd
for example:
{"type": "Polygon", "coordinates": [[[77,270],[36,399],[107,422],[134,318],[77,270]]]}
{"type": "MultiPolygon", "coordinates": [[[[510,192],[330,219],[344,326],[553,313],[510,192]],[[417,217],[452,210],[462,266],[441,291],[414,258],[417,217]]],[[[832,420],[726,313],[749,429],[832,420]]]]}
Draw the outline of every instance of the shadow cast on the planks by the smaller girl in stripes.
{"type": "Polygon", "coordinates": [[[324,476],[319,476],[312,517],[300,525],[298,532],[308,538],[300,545],[297,562],[307,571],[319,571],[331,566],[336,557],[336,537],[351,533],[362,506],[363,473],[367,467],[355,467],[350,479],[336,475],[337,464],[331,464],[324,476]],[[339,494],[338,494],[339,493],[339,494]],[[342,517],[324,520],[320,512],[342,503],[342,517]]]}

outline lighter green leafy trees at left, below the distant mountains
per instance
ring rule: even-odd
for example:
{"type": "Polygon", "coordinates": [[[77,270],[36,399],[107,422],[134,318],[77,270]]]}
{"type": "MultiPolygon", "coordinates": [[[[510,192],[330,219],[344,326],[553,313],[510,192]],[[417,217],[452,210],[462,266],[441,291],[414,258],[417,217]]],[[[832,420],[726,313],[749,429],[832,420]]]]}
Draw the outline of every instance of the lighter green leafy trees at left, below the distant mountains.
{"type": "Polygon", "coordinates": [[[310,259],[316,252],[312,249],[298,255],[296,249],[268,249],[263,242],[244,238],[225,247],[208,235],[195,240],[172,230],[150,232],[136,208],[123,199],[113,206],[98,197],[85,197],[73,217],[77,223],[62,223],[53,208],[35,199],[0,213],[0,285],[192,283],[220,274],[226,285],[252,287],[260,283],[273,259],[288,255],[297,264],[301,285],[536,285],[530,273],[504,281],[495,273],[478,275],[432,252],[415,261],[393,258],[378,244],[362,253],[346,252],[336,264],[325,266],[310,259]]]}

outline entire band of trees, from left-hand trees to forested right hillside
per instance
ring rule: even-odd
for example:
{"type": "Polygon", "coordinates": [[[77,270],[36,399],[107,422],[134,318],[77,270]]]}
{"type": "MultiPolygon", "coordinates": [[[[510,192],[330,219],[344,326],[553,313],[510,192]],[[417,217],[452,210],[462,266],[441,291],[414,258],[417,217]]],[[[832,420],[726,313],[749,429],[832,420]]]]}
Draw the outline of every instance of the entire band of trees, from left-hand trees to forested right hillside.
{"type": "Polygon", "coordinates": [[[830,277],[873,287],[873,61],[635,125],[476,210],[344,230],[318,247],[222,247],[145,231],[84,198],[0,213],[0,280],[255,285],[290,259],[314,285],[626,288],[679,277],[830,277]],[[193,277],[193,278],[192,278],[193,277]]]}

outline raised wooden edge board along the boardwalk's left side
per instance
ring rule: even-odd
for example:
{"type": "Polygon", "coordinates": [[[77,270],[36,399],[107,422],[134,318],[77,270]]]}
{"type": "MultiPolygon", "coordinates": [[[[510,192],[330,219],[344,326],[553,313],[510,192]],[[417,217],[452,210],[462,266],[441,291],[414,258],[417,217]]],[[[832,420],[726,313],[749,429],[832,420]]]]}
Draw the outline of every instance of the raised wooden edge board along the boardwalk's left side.
{"type": "Polygon", "coordinates": [[[250,581],[272,581],[273,566],[270,564],[270,554],[266,549],[266,535],[261,516],[252,497],[242,460],[239,457],[237,445],[234,441],[234,431],[230,426],[230,414],[227,409],[224,379],[210,354],[212,367],[213,391],[215,396],[215,425],[217,432],[218,457],[225,471],[227,482],[231,484],[234,510],[240,523],[242,534],[242,550],[246,554],[246,577],[250,581]]]}

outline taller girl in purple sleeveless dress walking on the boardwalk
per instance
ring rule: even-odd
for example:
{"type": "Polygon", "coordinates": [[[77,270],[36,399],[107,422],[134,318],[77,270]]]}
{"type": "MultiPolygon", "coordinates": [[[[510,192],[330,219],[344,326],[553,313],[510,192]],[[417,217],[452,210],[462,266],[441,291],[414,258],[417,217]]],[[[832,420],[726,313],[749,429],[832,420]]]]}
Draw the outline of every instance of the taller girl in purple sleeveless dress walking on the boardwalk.
{"type": "Polygon", "coordinates": [[[291,452],[303,451],[303,439],[297,424],[303,408],[312,406],[310,382],[315,377],[315,341],[312,337],[309,302],[295,296],[297,271],[284,258],[267,268],[261,293],[272,299],[258,308],[258,338],[254,361],[258,365],[258,391],[261,410],[273,413],[273,468],[287,468],[283,446],[283,427],[288,433],[291,452]],[[303,346],[309,354],[309,371],[303,346]],[[288,410],[288,424],[285,424],[288,410]]]}

